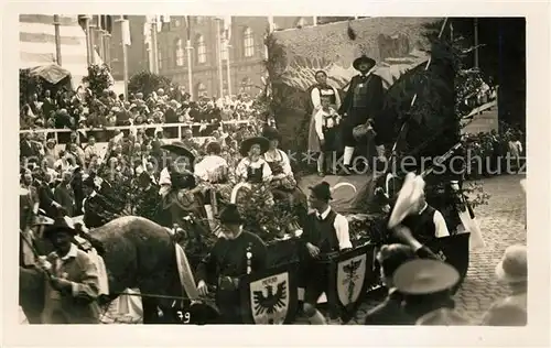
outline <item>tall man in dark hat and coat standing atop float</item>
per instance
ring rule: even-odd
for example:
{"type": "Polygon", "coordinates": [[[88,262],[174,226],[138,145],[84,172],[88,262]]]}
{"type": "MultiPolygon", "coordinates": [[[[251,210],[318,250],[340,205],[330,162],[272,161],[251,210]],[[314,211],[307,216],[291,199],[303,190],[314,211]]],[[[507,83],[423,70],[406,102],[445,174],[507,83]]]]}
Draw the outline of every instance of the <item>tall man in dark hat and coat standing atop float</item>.
{"type": "Polygon", "coordinates": [[[375,122],[382,109],[385,89],[382,79],[374,74],[376,62],[368,56],[360,56],[353,63],[359,75],[352,78],[343,105],[338,113],[343,116],[344,159],[343,164],[350,168],[354,149],[357,143],[353,137],[355,127],[366,123],[369,119],[375,122]]]}

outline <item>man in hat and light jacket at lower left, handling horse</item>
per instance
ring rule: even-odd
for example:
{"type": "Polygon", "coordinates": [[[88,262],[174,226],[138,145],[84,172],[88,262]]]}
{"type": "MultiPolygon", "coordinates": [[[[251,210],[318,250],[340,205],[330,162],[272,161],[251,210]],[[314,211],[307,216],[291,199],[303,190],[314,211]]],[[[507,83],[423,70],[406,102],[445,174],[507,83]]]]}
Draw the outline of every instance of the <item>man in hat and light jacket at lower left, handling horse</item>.
{"type": "Polygon", "coordinates": [[[88,254],[73,243],[71,219],[57,218],[44,230],[54,252],[41,260],[47,271],[44,324],[99,324],[98,270],[88,254]]]}

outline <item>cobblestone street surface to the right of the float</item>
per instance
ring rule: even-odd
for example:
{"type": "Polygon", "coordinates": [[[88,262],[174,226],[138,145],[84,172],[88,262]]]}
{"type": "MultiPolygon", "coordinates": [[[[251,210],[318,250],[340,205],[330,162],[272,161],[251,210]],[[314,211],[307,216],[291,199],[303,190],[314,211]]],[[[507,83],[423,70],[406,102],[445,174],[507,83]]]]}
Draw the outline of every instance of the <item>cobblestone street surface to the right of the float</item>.
{"type": "MultiPolygon", "coordinates": [[[[456,308],[478,322],[491,303],[508,294],[507,289],[495,280],[494,269],[505,249],[515,243],[525,244],[526,198],[520,187],[525,175],[504,175],[482,180],[484,191],[490,195],[488,205],[475,209],[486,248],[471,253],[467,276],[455,295],[456,308]]],[[[366,303],[359,309],[355,323],[374,304],[366,303]]]]}

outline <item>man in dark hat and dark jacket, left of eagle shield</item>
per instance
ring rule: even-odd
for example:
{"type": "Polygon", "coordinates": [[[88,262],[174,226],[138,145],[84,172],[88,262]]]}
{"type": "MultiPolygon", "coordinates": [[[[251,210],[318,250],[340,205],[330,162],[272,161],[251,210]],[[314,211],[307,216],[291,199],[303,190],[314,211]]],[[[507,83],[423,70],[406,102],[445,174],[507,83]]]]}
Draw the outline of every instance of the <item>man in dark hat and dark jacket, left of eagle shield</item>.
{"type": "Polygon", "coordinates": [[[228,205],[219,216],[223,236],[197,269],[197,290],[208,293],[207,284],[217,284],[216,305],[220,324],[242,324],[239,276],[267,268],[264,242],[242,229],[244,220],[236,205],[228,205]]]}

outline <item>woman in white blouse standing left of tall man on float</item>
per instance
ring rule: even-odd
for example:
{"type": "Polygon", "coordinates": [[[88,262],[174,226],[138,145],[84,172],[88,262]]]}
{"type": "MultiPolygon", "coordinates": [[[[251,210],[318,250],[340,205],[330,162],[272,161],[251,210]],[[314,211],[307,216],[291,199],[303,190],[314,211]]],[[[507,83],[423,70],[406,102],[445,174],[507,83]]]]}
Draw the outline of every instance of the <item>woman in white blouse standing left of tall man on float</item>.
{"type": "Polygon", "coordinates": [[[322,96],[327,96],[331,100],[331,107],[334,110],[341,108],[341,96],[338,90],[327,84],[327,74],[324,70],[318,70],[315,73],[316,84],[312,87],[310,93],[310,101],[312,102],[312,115],[310,117],[310,129],[309,129],[309,151],[311,153],[321,152],[320,140],[317,139],[317,133],[315,131],[314,116],[322,107],[322,96]]]}

